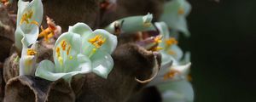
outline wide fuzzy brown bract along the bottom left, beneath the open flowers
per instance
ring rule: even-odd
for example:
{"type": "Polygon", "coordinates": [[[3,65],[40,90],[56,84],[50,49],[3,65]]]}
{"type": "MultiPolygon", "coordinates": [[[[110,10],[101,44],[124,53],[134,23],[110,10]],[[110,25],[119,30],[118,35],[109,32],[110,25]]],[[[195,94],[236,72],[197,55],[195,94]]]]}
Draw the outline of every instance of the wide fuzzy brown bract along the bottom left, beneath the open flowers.
{"type": "Polygon", "coordinates": [[[20,76],[9,80],[4,102],[74,102],[69,83],[63,79],[49,82],[39,77],[20,76]]]}

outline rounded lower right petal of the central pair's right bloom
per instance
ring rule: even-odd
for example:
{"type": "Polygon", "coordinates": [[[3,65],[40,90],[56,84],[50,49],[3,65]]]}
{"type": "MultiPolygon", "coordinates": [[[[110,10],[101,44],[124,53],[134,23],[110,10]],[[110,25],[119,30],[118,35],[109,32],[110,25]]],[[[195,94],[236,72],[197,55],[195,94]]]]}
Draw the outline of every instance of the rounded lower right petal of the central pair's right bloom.
{"type": "Polygon", "coordinates": [[[113,59],[110,54],[98,50],[90,59],[92,71],[100,77],[107,78],[109,72],[113,69],[113,59]]]}

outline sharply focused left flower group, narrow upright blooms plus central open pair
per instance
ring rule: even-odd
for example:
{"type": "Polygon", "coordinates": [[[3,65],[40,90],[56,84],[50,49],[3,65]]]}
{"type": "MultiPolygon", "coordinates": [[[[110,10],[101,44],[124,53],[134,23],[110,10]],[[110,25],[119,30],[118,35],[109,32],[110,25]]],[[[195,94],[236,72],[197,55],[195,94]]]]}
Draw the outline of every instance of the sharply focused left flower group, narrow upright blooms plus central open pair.
{"type": "Polygon", "coordinates": [[[20,51],[20,76],[31,75],[49,81],[64,78],[67,82],[77,74],[94,72],[107,78],[113,68],[110,54],[117,45],[117,37],[108,31],[98,29],[92,31],[84,23],[70,26],[69,31],[61,34],[55,42],[53,51],[54,63],[43,60],[37,64],[38,37],[49,42],[50,37],[61,33],[61,26],[46,17],[48,28],[39,26],[43,18],[41,0],[31,3],[18,2],[17,28],[15,31],[15,47],[20,51]]]}

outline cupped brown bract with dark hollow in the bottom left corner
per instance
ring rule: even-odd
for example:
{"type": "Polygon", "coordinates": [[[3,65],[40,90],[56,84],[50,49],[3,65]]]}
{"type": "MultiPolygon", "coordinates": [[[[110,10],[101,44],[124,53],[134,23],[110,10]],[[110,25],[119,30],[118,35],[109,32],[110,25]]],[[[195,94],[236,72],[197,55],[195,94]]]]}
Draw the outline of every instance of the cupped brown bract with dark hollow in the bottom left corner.
{"type": "Polygon", "coordinates": [[[44,102],[49,81],[40,78],[21,76],[7,82],[4,102],[44,102]]]}

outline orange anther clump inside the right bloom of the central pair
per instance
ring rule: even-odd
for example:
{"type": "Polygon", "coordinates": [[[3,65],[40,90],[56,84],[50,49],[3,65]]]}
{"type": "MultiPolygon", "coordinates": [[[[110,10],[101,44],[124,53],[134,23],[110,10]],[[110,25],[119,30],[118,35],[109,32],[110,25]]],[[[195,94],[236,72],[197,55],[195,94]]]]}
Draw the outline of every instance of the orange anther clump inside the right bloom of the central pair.
{"type": "Polygon", "coordinates": [[[102,44],[106,42],[106,38],[103,38],[101,35],[96,35],[96,37],[90,38],[89,41],[96,48],[100,48],[102,44]]]}

